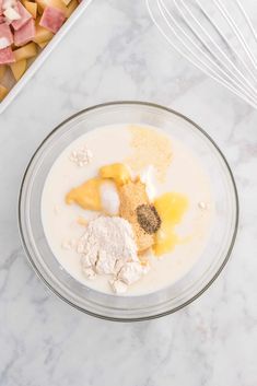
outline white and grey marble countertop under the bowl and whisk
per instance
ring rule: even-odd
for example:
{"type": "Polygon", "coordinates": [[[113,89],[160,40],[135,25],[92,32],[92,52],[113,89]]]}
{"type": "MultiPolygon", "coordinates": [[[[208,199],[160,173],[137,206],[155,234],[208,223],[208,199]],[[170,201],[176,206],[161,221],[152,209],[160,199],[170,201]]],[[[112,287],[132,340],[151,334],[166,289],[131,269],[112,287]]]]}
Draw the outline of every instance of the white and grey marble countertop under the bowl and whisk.
{"type": "Polygon", "coordinates": [[[173,51],[144,0],[95,0],[0,116],[0,385],[257,385],[257,112],[173,51]],[[170,106],[203,127],[236,179],[229,265],[196,302],[117,324],[72,309],[26,262],[17,231],[24,168],[71,114],[113,100],[170,106]]]}

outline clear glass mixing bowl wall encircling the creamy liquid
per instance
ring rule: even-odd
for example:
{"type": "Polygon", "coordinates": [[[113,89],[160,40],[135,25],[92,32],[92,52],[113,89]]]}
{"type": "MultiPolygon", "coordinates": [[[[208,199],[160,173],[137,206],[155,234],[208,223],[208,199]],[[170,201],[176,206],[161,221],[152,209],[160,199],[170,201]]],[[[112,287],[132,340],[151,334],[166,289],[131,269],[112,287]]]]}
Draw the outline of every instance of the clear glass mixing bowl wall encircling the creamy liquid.
{"type": "Polygon", "coordinates": [[[231,255],[237,231],[238,199],[234,178],[224,155],[199,126],[182,114],[159,105],[115,102],[75,114],[43,141],[22,182],[19,222],[28,260],[55,294],[84,313],[112,320],[132,321],[174,313],[209,288],[231,255]],[[78,282],[52,255],[42,224],[42,191],[57,156],[84,132],[115,124],[150,125],[168,131],[174,138],[194,149],[211,176],[215,221],[201,258],[180,280],[147,295],[109,295],[78,282]]]}

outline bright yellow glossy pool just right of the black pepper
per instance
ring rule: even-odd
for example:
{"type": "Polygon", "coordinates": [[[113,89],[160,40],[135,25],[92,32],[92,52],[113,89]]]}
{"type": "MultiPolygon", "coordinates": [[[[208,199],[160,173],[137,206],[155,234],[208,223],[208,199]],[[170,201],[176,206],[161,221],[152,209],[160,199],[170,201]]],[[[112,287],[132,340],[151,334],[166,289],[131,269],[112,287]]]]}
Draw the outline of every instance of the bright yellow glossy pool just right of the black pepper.
{"type": "Polygon", "coordinates": [[[156,256],[161,256],[180,244],[174,227],[182,221],[188,208],[188,199],[177,192],[167,192],[154,201],[154,207],[162,220],[162,225],[155,235],[153,250],[156,256]]]}

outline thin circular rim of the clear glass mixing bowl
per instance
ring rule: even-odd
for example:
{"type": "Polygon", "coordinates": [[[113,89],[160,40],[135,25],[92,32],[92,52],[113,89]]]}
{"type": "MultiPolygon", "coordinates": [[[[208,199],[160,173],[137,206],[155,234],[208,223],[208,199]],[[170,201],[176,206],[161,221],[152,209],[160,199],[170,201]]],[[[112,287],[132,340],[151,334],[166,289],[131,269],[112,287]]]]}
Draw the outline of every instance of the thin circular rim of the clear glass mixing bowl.
{"type": "Polygon", "coordinates": [[[142,101],[112,101],[112,102],[106,102],[106,103],[101,103],[101,104],[96,104],[90,107],[86,107],[73,115],[71,115],[70,117],[68,117],[67,119],[62,120],[59,125],[57,125],[45,138],[44,140],[39,143],[39,145],[36,148],[36,150],[34,151],[33,155],[31,156],[31,160],[25,168],[24,175],[22,177],[22,182],[21,182],[21,186],[20,186],[20,191],[19,191],[19,199],[17,199],[17,222],[19,222],[19,232],[20,232],[20,237],[22,241],[22,246],[25,250],[25,255],[27,258],[27,261],[30,262],[30,265],[33,267],[34,271],[36,272],[37,277],[39,277],[42,279],[42,281],[45,283],[45,285],[51,290],[51,292],[57,295],[59,299],[61,299],[62,301],[65,301],[66,303],[68,303],[69,305],[71,305],[73,308],[97,317],[100,319],[104,319],[104,320],[110,320],[110,321],[121,321],[121,323],[130,323],[130,321],[143,321],[143,320],[151,320],[151,319],[156,319],[170,314],[174,314],[175,312],[186,307],[187,305],[189,305],[190,303],[192,303],[194,301],[196,301],[199,296],[201,296],[208,289],[209,286],[217,280],[217,278],[220,276],[221,271],[223,270],[223,268],[225,267],[226,262],[230,259],[231,253],[233,250],[234,244],[235,244],[235,239],[236,239],[236,235],[237,235],[237,231],[238,231],[238,219],[240,219],[240,200],[238,200],[238,192],[237,192],[237,188],[236,188],[236,184],[235,184],[235,179],[232,173],[232,169],[223,154],[223,152],[220,150],[220,148],[218,147],[218,144],[215,143],[215,141],[199,126],[197,125],[194,120],[191,120],[190,118],[188,118],[187,116],[185,116],[182,113],[178,113],[170,107],[165,107],[163,105],[156,104],[156,103],[151,103],[151,102],[142,102],[142,101]],[[233,188],[233,192],[234,192],[234,199],[235,199],[235,225],[234,225],[234,230],[233,230],[233,234],[231,237],[231,244],[230,247],[227,249],[227,253],[221,264],[221,266],[219,267],[219,269],[217,270],[217,272],[213,274],[213,277],[209,280],[209,282],[200,290],[198,291],[194,296],[191,296],[189,300],[187,300],[186,302],[182,303],[179,306],[170,309],[170,311],[165,311],[163,313],[159,313],[155,315],[150,315],[150,316],[142,316],[142,317],[132,317],[132,318],[125,318],[125,317],[113,317],[113,316],[105,316],[105,315],[101,315],[97,313],[94,313],[92,311],[85,309],[74,303],[72,303],[71,301],[69,301],[67,297],[65,297],[60,292],[58,292],[43,276],[43,273],[38,270],[38,268],[36,267],[33,257],[31,256],[31,253],[26,246],[26,241],[25,241],[25,236],[23,233],[23,226],[22,226],[22,196],[23,196],[23,188],[24,188],[24,184],[28,174],[28,171],[31,168],[31,165],[36,156],[36,154],[38,153],[38,151],[42,149],[42,147],[48,141],[48,139],[54,136],[63,125],[66,125],[67,122],[69,122],[70,120],[74,119],[75,117],[82,115],[82,114],[86,114],[89,112],[102,108],[102,107],[108,107],[108,106],[118,106],[118,105],[130,105],[130,106],[149,106],[149,107],[153,107],[153,108],[157,108],[160,110],[164,110],[166,113],[171,113],[173,115],[176,115],[177,117],[186,120],[187,122],[189,122],[190,125],[192,125],[198,131],[200,131],[210,142],[211,144],[215,148],[215,150],[218,151],[219,155],[221,156],[222,161],[224,162],[224,165],[229,172],[229,176],[231,178],[231,183],[232,183],[232,188],[233,188]]]}

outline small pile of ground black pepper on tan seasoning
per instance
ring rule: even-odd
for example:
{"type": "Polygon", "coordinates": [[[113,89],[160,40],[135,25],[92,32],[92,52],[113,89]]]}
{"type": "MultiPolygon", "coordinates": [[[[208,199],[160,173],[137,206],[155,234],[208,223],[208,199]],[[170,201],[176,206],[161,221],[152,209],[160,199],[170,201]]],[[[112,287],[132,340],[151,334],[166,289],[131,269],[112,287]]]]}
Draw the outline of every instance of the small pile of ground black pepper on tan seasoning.
{"type": "Polygon", "coordinates": [[[148,233],[157,232],[161,226],[161,219],[152,204],[142,203],[136,209],[139,225],[148,233]]]}

